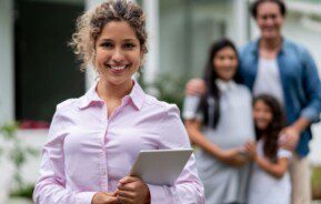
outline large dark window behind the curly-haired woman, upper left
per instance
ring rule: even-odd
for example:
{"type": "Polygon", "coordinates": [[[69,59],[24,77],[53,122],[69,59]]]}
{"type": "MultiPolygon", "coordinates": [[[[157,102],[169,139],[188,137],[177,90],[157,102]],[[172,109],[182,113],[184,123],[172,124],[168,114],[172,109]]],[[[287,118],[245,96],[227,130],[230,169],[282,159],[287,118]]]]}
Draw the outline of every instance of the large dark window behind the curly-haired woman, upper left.
{"type": "Polygon", "coordinates": [[[56,105],[84,93],[84,74],[67,47],[82,3],[16,1],[16,119],[50,122],[56,105]]]}

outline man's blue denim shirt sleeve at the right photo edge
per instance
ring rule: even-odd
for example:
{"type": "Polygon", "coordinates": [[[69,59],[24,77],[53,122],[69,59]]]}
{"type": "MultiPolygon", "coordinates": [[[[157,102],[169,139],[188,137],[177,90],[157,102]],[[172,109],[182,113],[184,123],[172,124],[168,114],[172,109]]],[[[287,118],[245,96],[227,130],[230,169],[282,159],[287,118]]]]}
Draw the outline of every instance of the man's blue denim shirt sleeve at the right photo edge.
{"type": "Polygon", "coordinates": [[[321,113],[321,82],[317,64],[311,54],[304,50],[303,54],[303,88],[308,98],[308,104],[301,111],[301,116],[310,122],[318,122],[321,113]]]}

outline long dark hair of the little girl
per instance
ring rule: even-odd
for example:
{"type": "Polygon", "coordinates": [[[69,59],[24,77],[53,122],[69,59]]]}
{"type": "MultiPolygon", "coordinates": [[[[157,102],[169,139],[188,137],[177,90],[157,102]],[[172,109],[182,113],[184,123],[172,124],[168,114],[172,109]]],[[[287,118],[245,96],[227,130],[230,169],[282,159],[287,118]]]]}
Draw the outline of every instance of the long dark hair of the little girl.
{"type": "Polygon", "coordinates": [[[253,106],[258,101],[262,101],[265,105],[269,106],[272,113],[271,123],[267,126],[265,130],[259,130],[255,125],[257,140],[260,140],[262,135],[265,135],[263,143],[263,153],[272,162],[277,162],[278,156],[278,140],[281,130],[284,126],[284,114],[279,101],[268,94],[261,94],[254,98],[253,106]]]}

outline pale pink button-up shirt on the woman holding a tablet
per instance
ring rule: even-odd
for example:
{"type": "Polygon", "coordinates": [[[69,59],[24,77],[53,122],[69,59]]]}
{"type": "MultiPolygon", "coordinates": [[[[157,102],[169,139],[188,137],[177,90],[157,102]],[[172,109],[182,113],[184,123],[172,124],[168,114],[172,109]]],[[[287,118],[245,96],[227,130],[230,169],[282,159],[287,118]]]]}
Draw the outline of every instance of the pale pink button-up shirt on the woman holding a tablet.
{"type": "MultiPolygon", "coordinates": [[[[96,86],[57,105],[34,203],[90,204],[97,192],[117,190],[141,150],[190,147],[175,105],[146,94],[136,82],[108,119],[96,86]]],[[[173,186],[148,186],[152,204],[204,203],[193,155],[173,186]]]]}

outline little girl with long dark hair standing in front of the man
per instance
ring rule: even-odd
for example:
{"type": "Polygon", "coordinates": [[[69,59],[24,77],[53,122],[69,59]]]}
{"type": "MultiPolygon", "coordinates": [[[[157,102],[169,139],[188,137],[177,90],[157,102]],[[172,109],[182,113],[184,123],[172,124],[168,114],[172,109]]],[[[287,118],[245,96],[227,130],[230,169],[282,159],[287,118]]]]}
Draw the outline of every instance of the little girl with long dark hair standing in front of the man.
{"type": "Polygon", "coordinates": [[[278,140],[284,116],[277,99],[259,95],[253,100],[257,146],[245,145],[253,159],[249,204],[289,204],[291,182],[288,172],[291,152],[280,149],[278,140]]]}

